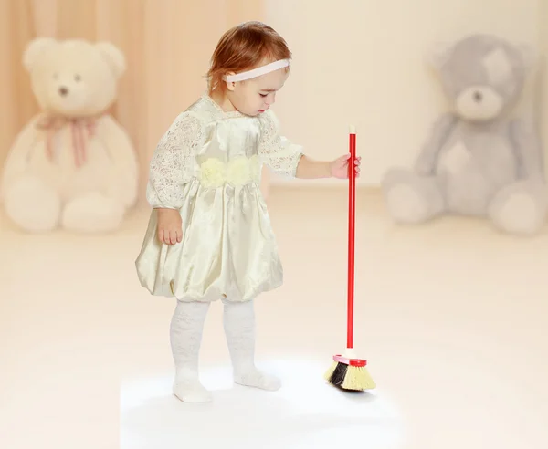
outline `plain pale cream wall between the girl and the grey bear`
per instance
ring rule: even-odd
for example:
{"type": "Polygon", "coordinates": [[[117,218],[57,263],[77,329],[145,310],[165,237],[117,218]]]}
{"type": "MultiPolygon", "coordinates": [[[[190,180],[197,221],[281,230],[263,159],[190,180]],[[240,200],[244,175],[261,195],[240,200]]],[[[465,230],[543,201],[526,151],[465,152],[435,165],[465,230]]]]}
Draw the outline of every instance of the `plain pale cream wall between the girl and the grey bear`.
{"type": "MultiPolygon", "coordinates": [[[[541,6],[547,16],[546,0],[265,1],[267,20],[295,57],[276,105],[284,131],[312,157],[331,160],[347,151],[354,123],[360,183],[411,162],[445,107],[425,64],[429,47],[477,31],[537,45],[540,22],[548,26],[538,18],[541,6]]],[[[532,98],[530,89],[523,111],[533,110],[532,98]]]]}

